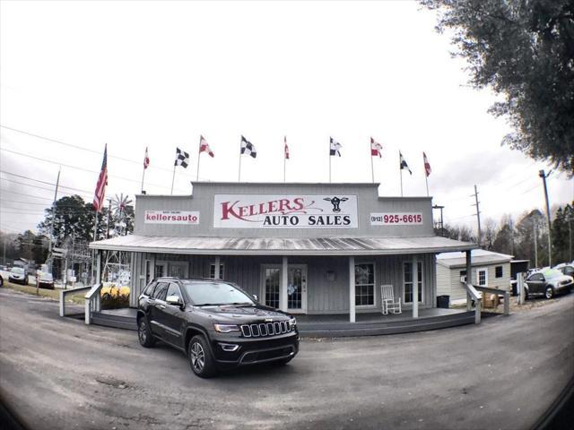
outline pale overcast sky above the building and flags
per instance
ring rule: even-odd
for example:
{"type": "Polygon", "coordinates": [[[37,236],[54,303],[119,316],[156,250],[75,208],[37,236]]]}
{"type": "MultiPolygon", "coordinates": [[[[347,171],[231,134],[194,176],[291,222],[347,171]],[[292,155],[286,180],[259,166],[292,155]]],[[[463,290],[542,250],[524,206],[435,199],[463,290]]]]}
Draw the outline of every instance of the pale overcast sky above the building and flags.
{"type": "MultiPolygon", "coordinates": [[[[201,156],[203,180],[238,179],[243,134],[257,159],[242,159],[242,181],[283,181],[287,135],[288,182],[328,181],[329,136],[343,145],[333,182],[370,182],[373,136],[380,195],[400,195],[399,150],[413,171],[404,195],[426,195],[424,150],[447,222],[475,226],[474,185],[483,219],[544,207],[549,167],[500,146],[510,129],[487,113],[496,98],[466,85],[415,2],[3,1],[0,19],[4,231],[35,230],[60,164],[58,196],[91,201],[106,142],[108,196],[139,192],[146,146],[147,192],[170,193],[178,146],[191,165],[175,193],[190,193],[200,134],[215,153],[201,156]]],[[[574,198],[565,174],[548,186],[551,204],[574,198]]]]}

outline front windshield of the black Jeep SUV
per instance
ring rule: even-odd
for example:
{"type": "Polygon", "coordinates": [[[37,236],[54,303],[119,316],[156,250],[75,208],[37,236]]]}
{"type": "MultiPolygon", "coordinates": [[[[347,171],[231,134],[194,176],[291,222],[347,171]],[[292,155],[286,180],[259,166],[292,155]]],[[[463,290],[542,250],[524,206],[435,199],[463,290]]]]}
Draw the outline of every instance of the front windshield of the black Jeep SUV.
{"type": "Polygon", "coordinates": [[[253,305],[253,300],[243,291],[227,282],[182,280],[187,296],[196,306],[201,305],[253,305]]]}

